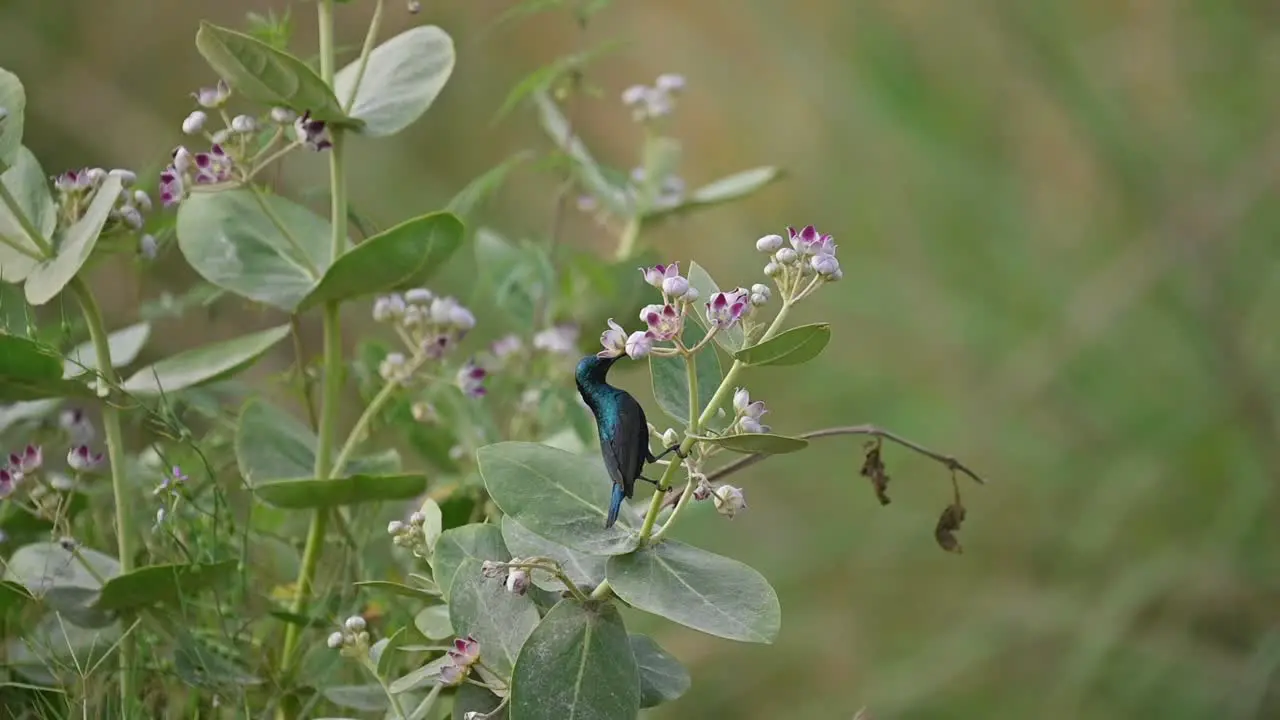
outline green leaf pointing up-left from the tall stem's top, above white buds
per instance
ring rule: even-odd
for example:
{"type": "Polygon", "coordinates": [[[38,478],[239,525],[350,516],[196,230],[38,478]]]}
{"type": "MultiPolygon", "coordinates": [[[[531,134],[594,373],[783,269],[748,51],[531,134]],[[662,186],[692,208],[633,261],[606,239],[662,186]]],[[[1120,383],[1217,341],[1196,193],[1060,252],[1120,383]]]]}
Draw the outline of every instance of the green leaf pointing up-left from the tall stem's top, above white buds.
{"type": "Polygon", "coordinates": [[[196,50],[237,94],[260,105],[310,111],[326,123],[348,124],[329,86],[306,63],[232,29],[201,22],[196,50]]]}

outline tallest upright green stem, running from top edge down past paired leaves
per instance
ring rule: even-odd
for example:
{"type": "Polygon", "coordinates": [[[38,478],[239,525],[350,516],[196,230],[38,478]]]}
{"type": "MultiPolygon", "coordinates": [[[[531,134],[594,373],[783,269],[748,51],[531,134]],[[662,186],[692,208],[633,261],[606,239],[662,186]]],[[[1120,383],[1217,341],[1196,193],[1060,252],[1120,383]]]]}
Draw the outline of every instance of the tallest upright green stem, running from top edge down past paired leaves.
{"type": "MultiPolygon", "coordinates": [[[[334,42],[333,42],[333,4],[334,0],[320,0],[316,4],[316,14],[320,26],[320,77],[333,87],[334,42]]],[[[333,128],[333,147],[329,150],[329,195],[330,195],[330,224],[332,261],[337,261],[346,250],[347,240],[347,183],[343,163],[343,133],[333,128]]],[[[315,477],[326,480],[333,475],[333,446],[338,430],[338,411],[342,396],[342,325],[339,320],[339,305],[325,302],[323,307],[324,328],[324,389],[320,397],[320,428],[319,442],[316,445],[315,477]]],[[[298,569],[298,579],[294,585],[293,605],[291,611],[302,615],[307,602],[311,600],[311,584],[315,580],[316,566],[324,552],[325,529],[329,523],[328,509],[317,509],[311,516],[311,527],[307,529],[307,543],[302,551],[302,566],[298,569]]],[[[284,644],[280,651],[280,674],[288,676],[293,667],[294,651],[297,650],[301,628],[289,624],[284,630],[284,644]]],[[[280,706],[282,715],[292,715],[292,703],[280,706]]]]}

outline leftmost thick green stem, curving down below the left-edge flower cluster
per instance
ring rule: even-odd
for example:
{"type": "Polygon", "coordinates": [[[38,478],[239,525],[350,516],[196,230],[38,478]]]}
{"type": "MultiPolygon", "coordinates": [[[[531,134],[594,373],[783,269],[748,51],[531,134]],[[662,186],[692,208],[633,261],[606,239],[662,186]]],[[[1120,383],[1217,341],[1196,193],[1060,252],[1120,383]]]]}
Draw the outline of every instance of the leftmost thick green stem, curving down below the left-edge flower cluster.
{"type": "MultiPolygon", "coordinates": [[[[84,278],[72,278],[68,286],[76,295],[81,310],[84,314],[84,324],[88,325],[88,334],[93,342],[93,354],[97,356],[97,372],[108,387],[116,387],[119,377],[115,366],[111,365],[111,343],[108,341],[106,325],[102,323],[102,313],[97,307],[97,300],[90,290],[84,278]]],[[[120,411],[106,402],[102,405],[102,430],[106,436],[106,456],[111,465],[111,493],[115,500],[115,548],[120,562],[120,574],[127,575],[133,570],[133,505],[127,497],[124,487],[124,433],[120,432],[120,411]]],[[[124,619],[125,623],[128,618],[124,619]]],[[[137,688],[134,685],[134,642],[133,638],[120,638],[120,710],[128,715],[129,707],[137,701],[137,688]]]]}

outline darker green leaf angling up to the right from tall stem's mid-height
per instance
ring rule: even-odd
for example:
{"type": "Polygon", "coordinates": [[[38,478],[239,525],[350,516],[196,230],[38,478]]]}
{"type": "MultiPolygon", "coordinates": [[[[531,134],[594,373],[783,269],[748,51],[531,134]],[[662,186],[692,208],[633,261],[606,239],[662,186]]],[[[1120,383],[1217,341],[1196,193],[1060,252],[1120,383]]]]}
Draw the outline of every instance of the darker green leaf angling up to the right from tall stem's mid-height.
{"type": "Polygon", "coordinates": [[[325,272],[297,311],[422,283],[462,245],[462,223],[448,213],[406,220],[365,240],[325,272]]]}

